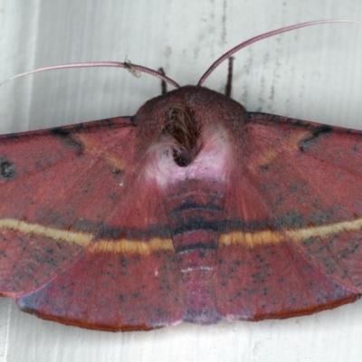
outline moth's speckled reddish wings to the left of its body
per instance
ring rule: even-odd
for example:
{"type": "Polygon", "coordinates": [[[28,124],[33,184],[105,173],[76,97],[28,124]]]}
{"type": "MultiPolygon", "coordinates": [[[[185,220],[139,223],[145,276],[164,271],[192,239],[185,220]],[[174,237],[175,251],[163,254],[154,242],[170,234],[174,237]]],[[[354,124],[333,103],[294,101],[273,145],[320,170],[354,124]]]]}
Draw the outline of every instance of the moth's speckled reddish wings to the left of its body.
{"type": "Polygon", "coordinates": [[[90,329],[181,319],[165,212],[138,177],[135,143],[127,118],[1,138],[3,296],[90,329]]]}

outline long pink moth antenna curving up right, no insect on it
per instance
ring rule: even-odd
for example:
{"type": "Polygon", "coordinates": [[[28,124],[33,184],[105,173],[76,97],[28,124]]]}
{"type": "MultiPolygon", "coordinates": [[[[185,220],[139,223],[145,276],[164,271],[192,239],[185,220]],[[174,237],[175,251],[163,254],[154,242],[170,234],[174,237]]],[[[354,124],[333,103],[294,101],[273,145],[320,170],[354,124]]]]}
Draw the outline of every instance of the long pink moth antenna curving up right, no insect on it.
{"type": "Polygon", "coordinates": [[[222,55],[216,62],[214,62],[207,71],[205,71],[205,74],[200,78],[200,81],[198,81],[197,85],[203,84],[204,81],[214,71],[215,68],[217,68],[226,59],[230,58],[235,52],[238,52],[241,49],[243,49],[245,46],[248,46],[248,45],[250,45],[252,43],[258,42],[258,41],[260,41],[262,39],[269,38],[271,36],[274,36],[274,35],[277,35],[277,34],[280,34],[280,33],[291,32],[291,30],[300,29],[300,28],[304,28],[306,26],[311,26],[311,25],[330,24],[330,23],[362,24],[361,22],[357,22],[355,20],[339,20],[339,19],[315,20],[315,21],[312,21],[312,22],[285,26],[284,28],[272,30],[271,32],[268,32],[268,33],[262,33],[261,35],[257,35],[257,36],[252,37],[251,39],[247,40],[246,42],[243,42],[243,43],[240,43],[239,45],[236,45],[229,52],[225,52],[224,55],[222,55]]]}

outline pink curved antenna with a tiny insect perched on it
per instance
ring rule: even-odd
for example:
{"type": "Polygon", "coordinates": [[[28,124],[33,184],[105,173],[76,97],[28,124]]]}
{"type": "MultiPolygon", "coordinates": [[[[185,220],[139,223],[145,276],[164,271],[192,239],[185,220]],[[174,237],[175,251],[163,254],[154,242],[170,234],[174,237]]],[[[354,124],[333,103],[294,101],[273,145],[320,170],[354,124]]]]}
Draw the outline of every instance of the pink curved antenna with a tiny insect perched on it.
{"type": "Polygon", "coordinates": [[[38,68],[33,71],[25,71],[24,73],[14,75],[14,77],[9,78],[6,81],[2,81],[0,86],[4,85],[8,81],[13,81],[16,78],[24,77],[24,75],[37,73],[40,71],[54,71],[57,69],[66,69],[66,68],[90,68],[90,67],[117,67],[117,68],[125,68],[131,71],[133,74],[138,74],[138,72],[147,73],[153,75],[154,77],[159,78],[161,81],[166,81],[168,84],[173,85],[176,88],[180,88],[180,86],[168,78],[165,74],[160,73],[159,71],[154,71],[153,69],[149,69],[147,67],[143,67],[142,65],[131,64],[129,61],[127,62],[73,62],[70,64],[61,64],[61,65],[52,65],[50,67],[38,68]]]}

